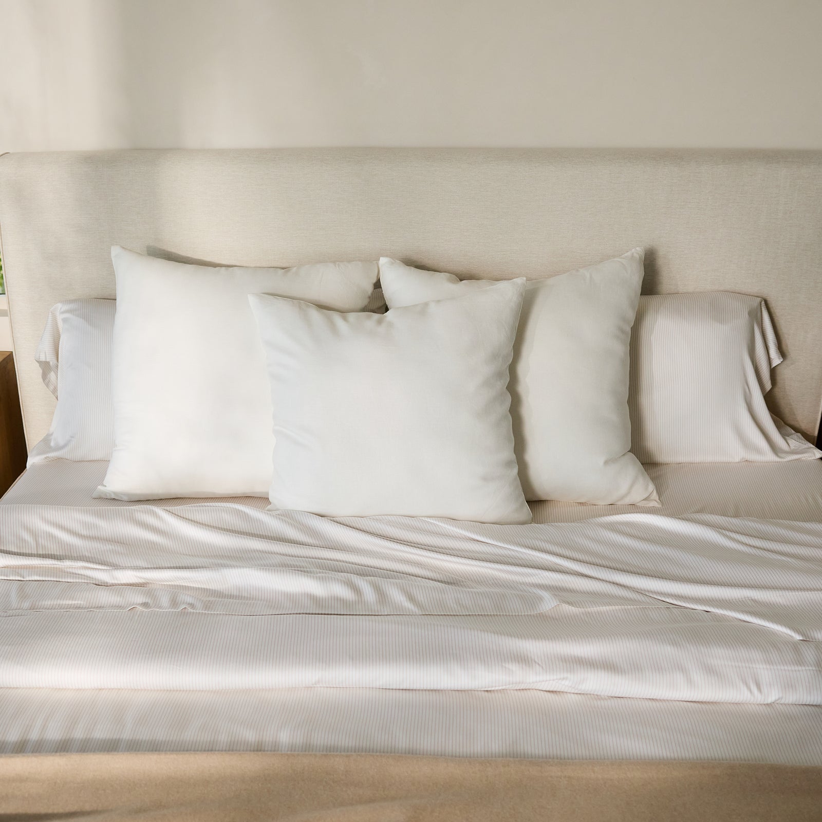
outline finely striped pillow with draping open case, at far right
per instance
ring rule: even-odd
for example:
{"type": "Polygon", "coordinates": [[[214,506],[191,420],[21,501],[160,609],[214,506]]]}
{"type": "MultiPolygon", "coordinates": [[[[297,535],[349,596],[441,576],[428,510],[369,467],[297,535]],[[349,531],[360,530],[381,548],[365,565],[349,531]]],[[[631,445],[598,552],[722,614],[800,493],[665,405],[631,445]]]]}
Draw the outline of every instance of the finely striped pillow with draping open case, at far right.
{"type": "Polygon", "coordinates": [[[648,463],[818,459],[765,404],[771,367],[781,362],[759,297],[641,298],[631,340],[635,455],[648,463]]]}

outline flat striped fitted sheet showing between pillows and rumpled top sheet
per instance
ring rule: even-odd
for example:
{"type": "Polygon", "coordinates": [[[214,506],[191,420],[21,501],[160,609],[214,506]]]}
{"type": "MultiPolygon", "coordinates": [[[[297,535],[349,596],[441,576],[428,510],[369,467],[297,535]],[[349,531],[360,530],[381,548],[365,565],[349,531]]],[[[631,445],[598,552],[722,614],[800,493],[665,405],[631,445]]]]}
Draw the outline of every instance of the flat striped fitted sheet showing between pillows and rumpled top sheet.
{"type": "MultiPolygon", "coordinates": [[[[32,465],[0,499],[0,506],[155,506],[173,508],[201,504],[201,499],[125,502],[95,499],[107,462],[54,459],[32,465]]],[[[643,512],[653,515],[718,514],[764,520],[822,522],[822,459],[780,463],[647,464],[645,469],[659,492],[662,505],[589,506],[577,502],[542,501],[530,504],[534,522],[575,522],[593,517],[643,512]]],[[[230,501],[264,510],[263,497],[232,497],[230,501]]]]}

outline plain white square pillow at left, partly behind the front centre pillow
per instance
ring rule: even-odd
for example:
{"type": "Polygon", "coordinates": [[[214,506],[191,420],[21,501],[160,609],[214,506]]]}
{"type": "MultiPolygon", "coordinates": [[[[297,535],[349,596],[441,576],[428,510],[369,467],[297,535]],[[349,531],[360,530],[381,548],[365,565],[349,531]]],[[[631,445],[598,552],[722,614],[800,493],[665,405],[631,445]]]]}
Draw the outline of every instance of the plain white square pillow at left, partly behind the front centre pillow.
{"type": "Polygon", "coordinates": [[[210,268],[113,247],[114,450],[95,496],[265,496],[271,401],[247,295],[357,311],[376,263],[210,268]]]}

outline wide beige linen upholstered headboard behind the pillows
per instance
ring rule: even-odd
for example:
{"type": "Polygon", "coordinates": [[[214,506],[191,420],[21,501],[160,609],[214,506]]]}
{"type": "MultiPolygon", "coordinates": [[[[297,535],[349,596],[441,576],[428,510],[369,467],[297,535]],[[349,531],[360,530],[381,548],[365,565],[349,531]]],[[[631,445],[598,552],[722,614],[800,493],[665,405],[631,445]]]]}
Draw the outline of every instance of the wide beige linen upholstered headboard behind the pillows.
{"type": "MultiPolygon", "coordinates": [[[[647,249],[647,293],[767,298],[771,406],[822,406],[822,152],[151,150],[5,155],[0,236],[29,446],[53,398],[33,353],[54,302],[113,297],[109,247],[237,265],[373,259],[558,274],[647,249]]],[[[150,334],[150,329],[146,329],[150,334]]]]}

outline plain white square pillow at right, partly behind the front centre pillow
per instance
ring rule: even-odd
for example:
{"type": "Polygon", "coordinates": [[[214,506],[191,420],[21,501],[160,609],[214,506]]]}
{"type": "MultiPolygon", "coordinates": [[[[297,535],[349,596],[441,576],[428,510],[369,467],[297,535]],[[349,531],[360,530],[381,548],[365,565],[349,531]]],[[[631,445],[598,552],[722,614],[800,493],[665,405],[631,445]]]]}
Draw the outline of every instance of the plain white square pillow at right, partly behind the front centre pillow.
{"type": "MultiPolygon", "coordinates": [[[[630,326],[643,251],[529,282],[511,366],[511,416],[520,480],[529,500],[658,505],[630,454],[630,326]]],[[[386,257],[382,290],[397,307],[487,289],[386,257]]]]}

